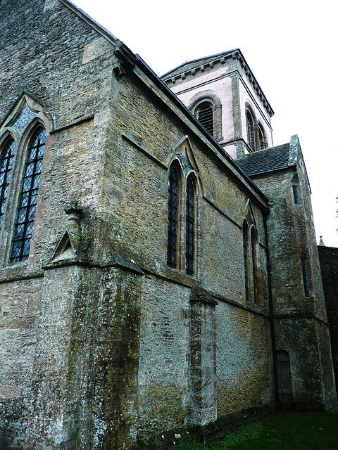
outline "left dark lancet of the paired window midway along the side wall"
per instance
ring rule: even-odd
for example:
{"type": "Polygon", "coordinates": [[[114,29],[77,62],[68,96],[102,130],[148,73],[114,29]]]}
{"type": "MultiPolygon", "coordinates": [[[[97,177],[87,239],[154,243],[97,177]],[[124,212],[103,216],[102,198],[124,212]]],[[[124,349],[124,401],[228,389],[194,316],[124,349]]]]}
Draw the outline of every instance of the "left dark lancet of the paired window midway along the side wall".
{"type": "Polygon", "coordinates": [[[178,186],[179,175],[175,164],[171,165],[168,178],[168,248],[167,264],[176,269],[177,266],[177,219],[178,219],[178,186]]]}

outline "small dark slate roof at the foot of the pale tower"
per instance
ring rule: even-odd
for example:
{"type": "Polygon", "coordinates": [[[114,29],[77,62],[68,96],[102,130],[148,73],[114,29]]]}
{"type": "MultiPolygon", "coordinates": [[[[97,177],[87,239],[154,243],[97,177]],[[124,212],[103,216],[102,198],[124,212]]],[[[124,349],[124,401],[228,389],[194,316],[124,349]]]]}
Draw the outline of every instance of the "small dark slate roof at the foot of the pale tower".
{"type": "Polygon", "coordinates": [[[295,165],[296,161],[290,161],[289,155],[290,143],[284,143],[282,146],[265,148],[250,153],[236,162],[246,175],[253,176],[287,169],[290,165],[295,165]]]}

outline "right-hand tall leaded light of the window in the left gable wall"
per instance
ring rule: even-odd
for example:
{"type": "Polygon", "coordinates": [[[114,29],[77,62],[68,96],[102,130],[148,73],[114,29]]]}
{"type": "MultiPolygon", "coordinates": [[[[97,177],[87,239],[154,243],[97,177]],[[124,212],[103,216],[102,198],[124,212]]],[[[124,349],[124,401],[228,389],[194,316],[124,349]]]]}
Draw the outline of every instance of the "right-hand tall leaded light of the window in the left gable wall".
{"type": "Polygon", "coordinates": [[[27,159],[18,203],[18,216],[15,223],[10,262],[23,261],[30,254],[30,240],[32,239],[45,141],[46,131],[39,125],[27,146],[27,159]]]}

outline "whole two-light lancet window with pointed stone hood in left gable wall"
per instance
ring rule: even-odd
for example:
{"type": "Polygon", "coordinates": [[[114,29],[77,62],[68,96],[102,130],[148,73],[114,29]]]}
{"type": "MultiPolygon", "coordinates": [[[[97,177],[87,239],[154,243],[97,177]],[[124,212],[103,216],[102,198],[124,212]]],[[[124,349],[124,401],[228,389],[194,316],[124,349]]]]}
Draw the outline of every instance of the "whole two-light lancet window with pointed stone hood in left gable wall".
{"type": "Polygon", "coordinates": [[[42,105],[24,94],[0,130],[0,135],[4,132],[6,136],[0,146],[1,264],[24,261],[30,255],[45,122],[48,119],[42,105]]]}

